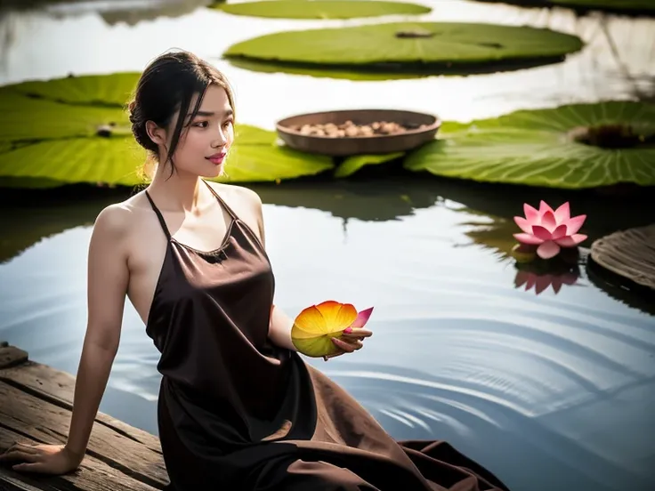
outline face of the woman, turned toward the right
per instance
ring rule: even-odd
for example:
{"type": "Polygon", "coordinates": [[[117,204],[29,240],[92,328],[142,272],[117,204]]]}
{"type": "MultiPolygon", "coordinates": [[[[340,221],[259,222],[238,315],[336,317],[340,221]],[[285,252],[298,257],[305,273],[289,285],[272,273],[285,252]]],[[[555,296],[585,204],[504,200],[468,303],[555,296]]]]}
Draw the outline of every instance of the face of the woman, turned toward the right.
{"type": "MultiPolygon", "coordinates": [[[[184,126],[177,144],[173,161],[179,173],[191,173],[202,177],[222,174],[225,158],[234,141],[234,117],[228,94],[220,85],[209,85],[198,114],[190,120],[190,113],[198,101],[196,95],[190,103],[189,114],[184,116],[184,126]]],[[[167,147],[177,115],[173,117],[167,132],[167,147]]]]}

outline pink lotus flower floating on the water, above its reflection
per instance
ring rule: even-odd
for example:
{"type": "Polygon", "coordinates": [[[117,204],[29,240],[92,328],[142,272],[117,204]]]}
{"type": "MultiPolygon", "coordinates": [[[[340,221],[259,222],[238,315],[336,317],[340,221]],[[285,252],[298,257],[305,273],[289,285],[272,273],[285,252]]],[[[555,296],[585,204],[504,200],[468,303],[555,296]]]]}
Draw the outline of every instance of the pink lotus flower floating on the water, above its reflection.
{"type": "Polygon", "coordinates": [[[541,201],[538,210],[525,203],[523,211],[525,218],[514,217],[523,233],[514,234],[514,237],[522,244],[538,246],[537,254],[542,259],[559,254],[560,247],[578,246],[586,239],[586,235],[577,233],[586,215],[571,218],[568,201],[555,211],[545,201],[541,201]]]}

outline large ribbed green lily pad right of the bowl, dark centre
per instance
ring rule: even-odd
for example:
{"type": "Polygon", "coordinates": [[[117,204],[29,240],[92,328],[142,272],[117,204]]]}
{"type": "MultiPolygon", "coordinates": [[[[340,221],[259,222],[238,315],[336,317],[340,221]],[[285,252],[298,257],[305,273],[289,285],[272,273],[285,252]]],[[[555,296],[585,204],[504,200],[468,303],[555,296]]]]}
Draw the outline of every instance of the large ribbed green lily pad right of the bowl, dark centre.
{"type": "Polygon", "coordinates": [[[655,185],[655,105],[632,101],[521,110],[450,124],[410,153],[410,171],[553,188],[655,185]]]}

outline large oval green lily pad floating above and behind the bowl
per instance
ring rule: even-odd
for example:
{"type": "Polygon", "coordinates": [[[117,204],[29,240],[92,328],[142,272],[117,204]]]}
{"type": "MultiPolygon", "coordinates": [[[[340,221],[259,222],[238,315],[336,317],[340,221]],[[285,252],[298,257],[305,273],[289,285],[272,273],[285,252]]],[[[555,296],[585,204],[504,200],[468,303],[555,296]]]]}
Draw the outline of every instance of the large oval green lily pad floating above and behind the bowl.
{"type": "MultiPolygon", "coordinates": [[[[393,22],[280,32],[233,44],[227,58],[299,63],[304,68],[433,68],[561,60],[582,47],[548,29],[457,22],[393,22]]],[[[355,70],[358,71],[358,70],[355,70]]]]}

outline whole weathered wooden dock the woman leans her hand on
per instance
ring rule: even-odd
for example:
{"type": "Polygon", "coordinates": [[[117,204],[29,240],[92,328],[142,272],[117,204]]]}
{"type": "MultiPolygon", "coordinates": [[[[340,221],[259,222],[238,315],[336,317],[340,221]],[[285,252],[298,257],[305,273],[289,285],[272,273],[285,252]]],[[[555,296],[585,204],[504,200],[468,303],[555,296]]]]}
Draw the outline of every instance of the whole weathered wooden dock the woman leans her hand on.
{"type": "MultiPolygon", "coordinates": [[[[0,453],[14,441],[65,443],[75,377],[0,345],[0,453]]],[[[0,491],[153,491],[168,484],[155,435],[99,413],[77,471],[43,476],[0,463],[0,491]]]]}

